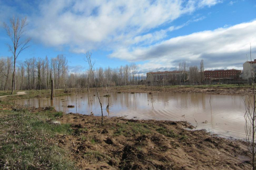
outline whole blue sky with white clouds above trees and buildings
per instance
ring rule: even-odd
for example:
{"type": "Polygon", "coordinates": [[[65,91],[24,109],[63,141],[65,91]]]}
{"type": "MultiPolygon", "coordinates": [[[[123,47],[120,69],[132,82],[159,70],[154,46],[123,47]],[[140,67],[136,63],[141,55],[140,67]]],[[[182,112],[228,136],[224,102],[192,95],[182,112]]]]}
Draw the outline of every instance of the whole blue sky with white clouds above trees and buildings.
{"type": "MultiPolygon", "coordinates": [[[[205,69],[242,69],[252,46],[256,59],[255,0],[0,0],[0,24],[27,17],[30,57],[64,54],[74,72],[132,62],[140,73],[176,70],[180,62],[205,69]],[[247,57],[246,57],[247,56],[247,57]]],[[[0,57],[11,56],[0,28],[0,57]]]]}

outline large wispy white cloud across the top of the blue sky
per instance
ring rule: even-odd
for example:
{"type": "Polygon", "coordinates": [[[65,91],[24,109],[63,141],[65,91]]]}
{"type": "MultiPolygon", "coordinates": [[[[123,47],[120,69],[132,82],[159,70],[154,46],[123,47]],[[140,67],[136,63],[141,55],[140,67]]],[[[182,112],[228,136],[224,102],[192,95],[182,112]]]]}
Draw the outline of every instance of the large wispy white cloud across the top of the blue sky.
{"type": "Polygon", "coordinates": [[[42,1],[38,6],[40,15],[36,13],[29,18],[33,24],[29,33],[33,39],[48,46],[70,47],[73,52],[103,47],[114,49],[140,42],[151,43],[163,39],[166,36],[164,31],[168,31],[147,33],[151,29],[218,2],[220,1],[42,1]]]}

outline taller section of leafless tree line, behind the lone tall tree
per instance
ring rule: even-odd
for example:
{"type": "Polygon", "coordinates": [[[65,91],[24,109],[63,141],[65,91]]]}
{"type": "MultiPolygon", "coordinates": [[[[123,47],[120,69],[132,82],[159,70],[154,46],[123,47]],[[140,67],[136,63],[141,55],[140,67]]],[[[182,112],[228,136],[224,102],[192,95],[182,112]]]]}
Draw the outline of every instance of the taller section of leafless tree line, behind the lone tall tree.
{"type": "MultiPolygon", "coordinates": [[[[52,59],[31,58],[20,63],[15,69],[15,89],[49,89],[51,79],[55,88],[65,88],[67,84],[67,59],[58,55],[52,59]]],[[[11,57],[0,59],[0,88],[12,89],[12,72],[14,65],[11,57]]]]}

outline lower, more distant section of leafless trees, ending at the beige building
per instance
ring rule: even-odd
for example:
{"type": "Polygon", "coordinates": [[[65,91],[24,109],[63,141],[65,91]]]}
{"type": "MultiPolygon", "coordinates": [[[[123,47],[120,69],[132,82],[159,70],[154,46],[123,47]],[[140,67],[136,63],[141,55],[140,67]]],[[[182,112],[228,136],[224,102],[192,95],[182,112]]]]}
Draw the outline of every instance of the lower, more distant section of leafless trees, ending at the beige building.
{"type": "Polygon", "coordinates": [[[117,68],[93,68],[93,73],[94,75],[90,70],[84,73],[70,73],[68,86],[86,88],[145,84],[145,77],[138,74],[135,63],[117,68]]]}

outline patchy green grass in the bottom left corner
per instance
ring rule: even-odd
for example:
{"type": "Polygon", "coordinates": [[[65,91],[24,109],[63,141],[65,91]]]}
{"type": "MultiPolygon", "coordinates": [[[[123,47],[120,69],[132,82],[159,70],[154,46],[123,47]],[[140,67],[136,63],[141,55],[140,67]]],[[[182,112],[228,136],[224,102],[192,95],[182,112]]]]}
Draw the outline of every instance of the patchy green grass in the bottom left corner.
{"type": "Polygon", "coordinates": [[[70,125],[51,125],[47,114],[0,111],[0,169],[75,169],[69,153],[50,140],[72,133],[70,125]]]}

